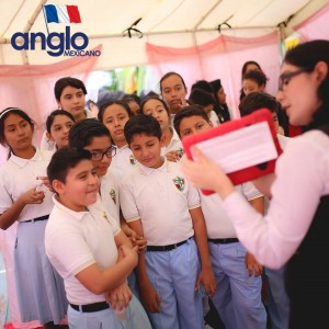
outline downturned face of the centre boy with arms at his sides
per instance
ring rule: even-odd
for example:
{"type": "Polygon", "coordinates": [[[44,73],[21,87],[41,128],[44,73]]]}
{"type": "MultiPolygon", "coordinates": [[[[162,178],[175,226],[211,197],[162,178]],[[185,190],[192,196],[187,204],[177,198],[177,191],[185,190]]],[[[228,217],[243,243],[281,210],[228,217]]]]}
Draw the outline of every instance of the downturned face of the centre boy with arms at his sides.
{"type": "Polygon", "coordinates": [[[163,138],[159,140],[158,137],[146,134],[135,134],[129,145],[137,161],[145,167],[154,169],[160,168],[163,163],[161,158],[162,146],[163,138]]]}

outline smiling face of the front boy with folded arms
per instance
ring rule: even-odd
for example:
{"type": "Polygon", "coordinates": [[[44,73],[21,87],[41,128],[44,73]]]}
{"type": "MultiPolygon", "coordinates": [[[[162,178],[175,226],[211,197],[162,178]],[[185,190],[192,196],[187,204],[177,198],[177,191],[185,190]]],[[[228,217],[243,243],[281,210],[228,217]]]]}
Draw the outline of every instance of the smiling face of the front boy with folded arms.
{"type": "Polygon", "coordinates": [[[97,170],[87,159],[68,170],[65,183],[58,180],[53,182],[58,201],[75,212],[83,212],[86,206],[97,201],[99,185],[97,170]]]}

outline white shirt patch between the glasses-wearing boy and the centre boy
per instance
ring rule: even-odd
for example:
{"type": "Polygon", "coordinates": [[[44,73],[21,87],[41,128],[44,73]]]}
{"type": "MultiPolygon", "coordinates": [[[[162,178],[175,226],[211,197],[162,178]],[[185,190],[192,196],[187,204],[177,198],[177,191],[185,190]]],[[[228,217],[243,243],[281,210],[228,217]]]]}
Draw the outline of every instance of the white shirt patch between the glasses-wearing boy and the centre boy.
{"type": "Polygon", "coordinates": [[[112,158],[111,162],[111,171],[114,173],[118,182],[136,166],[138,166],[138,161],[134,157],[128,145],[125,145],[121,148],[116,147],[116,154],[112,158]]]}

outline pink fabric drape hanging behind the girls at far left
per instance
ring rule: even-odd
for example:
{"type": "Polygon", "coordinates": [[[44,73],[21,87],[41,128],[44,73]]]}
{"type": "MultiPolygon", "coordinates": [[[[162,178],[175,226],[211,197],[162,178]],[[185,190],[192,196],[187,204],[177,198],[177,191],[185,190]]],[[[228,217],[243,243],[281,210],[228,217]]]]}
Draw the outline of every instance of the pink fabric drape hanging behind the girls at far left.
{"type": "MultiPolygon", "coordinates": [[[[101,50],[99,45],[94,50],[101,50]]],[[[32,66],[0,66],[0,110],[16,106],[35,121],[35,144],[39,145],[45,129],[47,115],[57,104],[54,97],[54,84],[61,77],[76,77],[86,81],[95,66],[98,57],[73,57],[53,65],[32,66]]],[[[0,149],[0,163],[5,161],[8,150],[0,149]]],[[[15,240],[16,223],[8,230],[0,230],[0,249],[2,250],[7,290],[9,296],[10,316],[15,328],[35,328],[37,322],[22,324],[16,303],[16,293],[13,275],[13,246],[15,240]]]]}

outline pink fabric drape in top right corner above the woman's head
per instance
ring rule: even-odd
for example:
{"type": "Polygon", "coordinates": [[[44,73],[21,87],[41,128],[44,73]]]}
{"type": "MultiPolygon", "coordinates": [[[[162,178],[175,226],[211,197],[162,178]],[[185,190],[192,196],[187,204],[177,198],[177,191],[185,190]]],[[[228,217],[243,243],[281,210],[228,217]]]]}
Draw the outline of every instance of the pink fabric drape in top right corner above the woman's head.
{"type": "Polygon", "coordinates": [[[294,30],[300,34],[300,42],[316,38],[329,39],[328,21],[329,4],[326,4],[313,16],[294,26],[294,30]]]}

